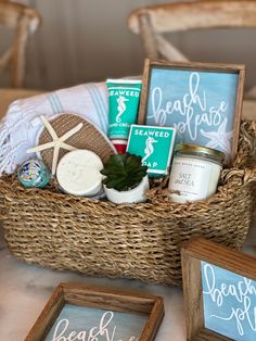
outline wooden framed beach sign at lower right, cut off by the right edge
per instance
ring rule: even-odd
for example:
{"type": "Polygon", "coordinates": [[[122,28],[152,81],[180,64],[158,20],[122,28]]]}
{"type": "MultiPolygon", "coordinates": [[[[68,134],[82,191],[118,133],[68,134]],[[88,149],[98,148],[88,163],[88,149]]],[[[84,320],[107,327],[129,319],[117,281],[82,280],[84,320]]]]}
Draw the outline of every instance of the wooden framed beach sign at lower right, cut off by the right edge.
{"type": "Polygon", "coordinates": [[[181,249],[188,340],[256,340],[256,258],[199,238],[181,249]]]}

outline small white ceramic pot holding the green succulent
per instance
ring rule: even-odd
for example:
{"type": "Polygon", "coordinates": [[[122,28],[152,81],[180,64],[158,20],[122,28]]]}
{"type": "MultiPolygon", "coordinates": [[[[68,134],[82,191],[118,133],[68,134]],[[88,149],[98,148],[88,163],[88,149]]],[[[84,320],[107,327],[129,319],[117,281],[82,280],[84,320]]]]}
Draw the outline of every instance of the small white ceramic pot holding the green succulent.
{"type": "Polygon", "coordinates": [[[121,203],[139,203],[146,200],[145,192],[150,189],[148,175],[143,177],[142,181],[129,191],[117,191],[114,188],[107,188],[104,185],[106,198],[115,204],[121,203]]]}

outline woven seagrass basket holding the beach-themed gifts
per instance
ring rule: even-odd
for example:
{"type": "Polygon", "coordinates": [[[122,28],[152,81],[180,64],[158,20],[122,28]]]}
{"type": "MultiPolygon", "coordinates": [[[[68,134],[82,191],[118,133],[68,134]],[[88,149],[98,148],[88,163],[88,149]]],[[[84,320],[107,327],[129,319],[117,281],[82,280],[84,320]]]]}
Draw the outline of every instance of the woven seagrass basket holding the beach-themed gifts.
{"type": "Polygon", "coordinates": [[[144,204],[114,205],[57,192],[24,189],[0,178],[0,210],[10,251],[20,260],[87,275],[181,285],[180,247],[204,236],[241,249],[249,228],[256,184],[256,123],[241,126],[234,166],[218,192],[188,204],[167,199],[164,182],[144,204]]]}

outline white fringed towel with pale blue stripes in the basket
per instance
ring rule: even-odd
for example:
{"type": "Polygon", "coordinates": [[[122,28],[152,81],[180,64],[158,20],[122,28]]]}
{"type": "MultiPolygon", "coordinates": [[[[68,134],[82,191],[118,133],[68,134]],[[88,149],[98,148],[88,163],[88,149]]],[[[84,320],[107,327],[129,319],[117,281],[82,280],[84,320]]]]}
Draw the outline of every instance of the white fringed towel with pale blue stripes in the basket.
{"type": "Polygon", "coordinates": [[[40,115],[75,113],[94,123],[104,134],[108,127],[108,98],[105,83],[84,84],[28,99],[16,100],[0,123],[0,175],[12,174],[23,161],[34,156],[26,150],[36,144],[42,127],[40,115]]]}

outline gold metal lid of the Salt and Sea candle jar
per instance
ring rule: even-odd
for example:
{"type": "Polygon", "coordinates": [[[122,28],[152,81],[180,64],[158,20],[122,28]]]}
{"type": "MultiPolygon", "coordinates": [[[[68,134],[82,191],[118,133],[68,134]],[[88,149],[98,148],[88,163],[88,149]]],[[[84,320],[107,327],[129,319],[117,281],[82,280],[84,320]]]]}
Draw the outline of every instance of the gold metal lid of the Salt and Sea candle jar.
{"type": "Polygon", "coordinates": [[[220,164],[225,162],[225,153],[208,147],[197,146],[197,144],[190,144],[190,143],[179,143],[176,146],[175,154],[183,153],[183,154],[191,154],[201,157],[210,159],[216,161],[220,164]]]}

